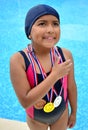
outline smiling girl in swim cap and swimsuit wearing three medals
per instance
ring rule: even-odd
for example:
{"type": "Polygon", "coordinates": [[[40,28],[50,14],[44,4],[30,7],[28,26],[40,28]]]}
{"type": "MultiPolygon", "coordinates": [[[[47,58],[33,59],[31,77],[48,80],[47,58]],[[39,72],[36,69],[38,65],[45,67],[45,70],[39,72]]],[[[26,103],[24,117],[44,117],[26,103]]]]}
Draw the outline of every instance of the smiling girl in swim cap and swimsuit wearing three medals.
{"type": "Polygon", "coordinates": [[[11,57],[10,73],[28,126],[30,130],[72,128],[77,109],[74,63],[70,51],[55,46],[60,39],[58,12],[48,5],[31,8],[25,32],[31,43],[11,57]]]}

